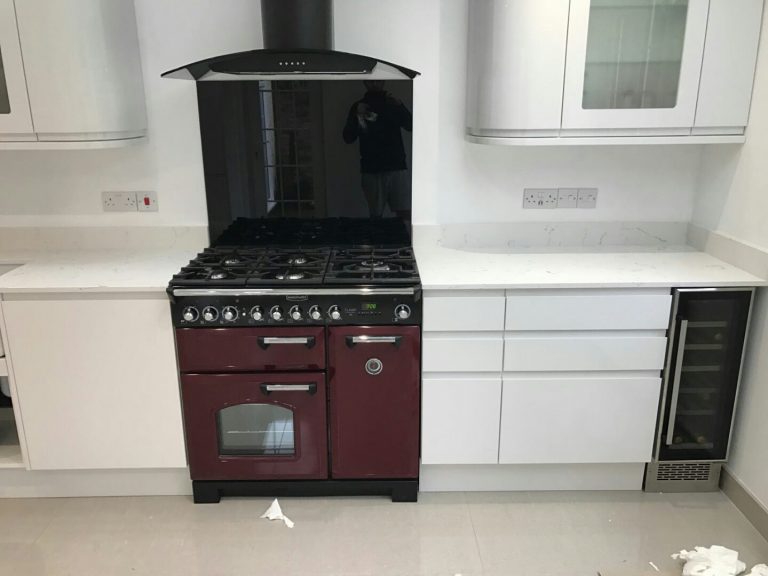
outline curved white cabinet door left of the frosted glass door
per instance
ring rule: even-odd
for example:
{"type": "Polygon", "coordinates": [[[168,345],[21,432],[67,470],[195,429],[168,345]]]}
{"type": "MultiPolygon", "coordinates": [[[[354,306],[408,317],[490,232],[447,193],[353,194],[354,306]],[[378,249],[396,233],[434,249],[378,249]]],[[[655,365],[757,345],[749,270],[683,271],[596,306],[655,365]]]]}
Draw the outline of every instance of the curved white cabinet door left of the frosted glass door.
{"type": "Polygon", "coordinates": [[[568,5],[568,0],[469,2],[471,134],[560,129],[568,5]]]}

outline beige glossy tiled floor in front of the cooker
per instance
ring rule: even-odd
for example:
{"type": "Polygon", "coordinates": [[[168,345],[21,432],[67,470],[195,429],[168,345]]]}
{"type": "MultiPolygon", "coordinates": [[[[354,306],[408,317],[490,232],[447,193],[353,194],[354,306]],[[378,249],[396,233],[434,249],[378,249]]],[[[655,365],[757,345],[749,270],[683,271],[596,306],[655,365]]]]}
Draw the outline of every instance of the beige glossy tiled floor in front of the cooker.
{"type": "MultiPolygon", "coordinates": [[[[595,576],[723,544],[749,566],[768,543],[722,494],[422,494],[283,499],[296,522],[259,519],[267,499],[0,500],[0,574],[595,576]]],[[[665,572],[666,573],[666,572],[665,572]]]]}

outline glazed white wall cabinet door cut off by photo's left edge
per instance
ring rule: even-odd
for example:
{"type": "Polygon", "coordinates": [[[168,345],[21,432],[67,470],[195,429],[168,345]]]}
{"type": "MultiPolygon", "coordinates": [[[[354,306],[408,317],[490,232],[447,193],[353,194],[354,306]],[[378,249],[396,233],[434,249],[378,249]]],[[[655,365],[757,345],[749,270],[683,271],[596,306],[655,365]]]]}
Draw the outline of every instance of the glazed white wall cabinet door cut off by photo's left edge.
{"type": "Polygon", "coordinates": [[[13,0],[0,0],[0,140],[32,133],[16,10],[13,0]]]}

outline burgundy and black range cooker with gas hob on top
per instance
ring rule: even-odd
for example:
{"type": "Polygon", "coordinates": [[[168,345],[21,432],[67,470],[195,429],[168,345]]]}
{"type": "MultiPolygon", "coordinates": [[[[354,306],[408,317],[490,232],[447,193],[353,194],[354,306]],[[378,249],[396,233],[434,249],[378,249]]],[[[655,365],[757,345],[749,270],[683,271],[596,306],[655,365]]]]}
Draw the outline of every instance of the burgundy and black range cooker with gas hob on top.
{"type": "Polygon", "coordinates": [[[169,293],[195,502],[416,500],[421,290],[410,248],[210,248],[169,293]]]}

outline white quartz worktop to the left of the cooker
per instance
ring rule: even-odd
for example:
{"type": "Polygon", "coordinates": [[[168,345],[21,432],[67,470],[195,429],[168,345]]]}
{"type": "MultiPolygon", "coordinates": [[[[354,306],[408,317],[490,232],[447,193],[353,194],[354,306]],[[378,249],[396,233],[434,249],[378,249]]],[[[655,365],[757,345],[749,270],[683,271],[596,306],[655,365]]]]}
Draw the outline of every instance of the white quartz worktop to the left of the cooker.
{"type": "Polygon", "coordinates": [[[0,275],[0,293],[161,292],[196,253],[180,248],[58,253],[0,250],[0,263],[22,264],[0,275]]]}

